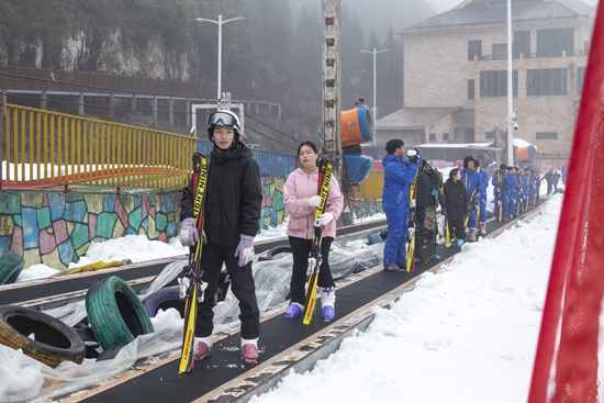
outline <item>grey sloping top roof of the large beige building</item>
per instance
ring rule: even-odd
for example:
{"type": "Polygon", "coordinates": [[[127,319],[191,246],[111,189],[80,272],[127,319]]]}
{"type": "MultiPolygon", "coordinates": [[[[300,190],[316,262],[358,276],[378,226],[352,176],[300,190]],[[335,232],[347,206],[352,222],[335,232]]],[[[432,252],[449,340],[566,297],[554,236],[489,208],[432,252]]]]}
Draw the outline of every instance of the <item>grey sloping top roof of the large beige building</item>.
{"type": "MultiPolygon", "coordinates": [[[[409,26],[404,32],[439,30],[452,25],[506,23],[506,0],[469,0],[455,9],[409,26]]],[[[570,19],[578,15],[595,18],[595,8],[580,0],[512,0],[513,21],[570,19]]]]}

